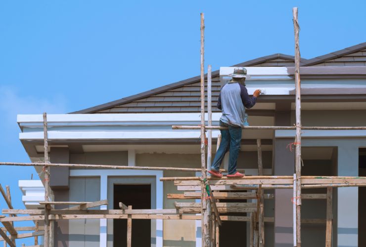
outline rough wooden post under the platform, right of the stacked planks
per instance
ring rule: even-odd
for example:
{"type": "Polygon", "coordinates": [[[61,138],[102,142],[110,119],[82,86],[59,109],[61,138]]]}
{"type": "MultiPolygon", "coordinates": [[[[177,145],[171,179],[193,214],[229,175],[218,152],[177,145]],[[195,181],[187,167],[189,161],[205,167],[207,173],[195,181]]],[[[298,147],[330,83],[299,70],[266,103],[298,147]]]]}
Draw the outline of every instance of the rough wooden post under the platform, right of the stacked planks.
{"type": "MultiPolygon", "coordinates": [[[[263,162],[262,162],[262,142],[257,139],[257,150],[258,150],[258,175],[263,176],[263,162]]],[[[264,247],[264,193],[262,190],[262,185],[259,185],[258,189],[258,200],[259,200],[259,247],[264,247]]]]}

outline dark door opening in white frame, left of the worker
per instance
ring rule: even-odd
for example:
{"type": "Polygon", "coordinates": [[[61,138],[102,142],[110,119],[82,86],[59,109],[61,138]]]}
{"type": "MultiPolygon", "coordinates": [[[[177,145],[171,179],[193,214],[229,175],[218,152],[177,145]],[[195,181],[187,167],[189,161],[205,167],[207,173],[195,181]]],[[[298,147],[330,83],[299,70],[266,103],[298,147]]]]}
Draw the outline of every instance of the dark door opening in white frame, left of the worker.
{"type": "MultiPolygon", "coordinates": [[[[150,184],[114,184],[113,208],[120,209],[119,203],[132,206],[132,209],[151,208],[150,184]]],[[[151,220],[133,219],[132,237],[133,247],[151,245],[151,220]]],[[[127,246],[127,219],[113,220],[113,247],[127,246]]]]}

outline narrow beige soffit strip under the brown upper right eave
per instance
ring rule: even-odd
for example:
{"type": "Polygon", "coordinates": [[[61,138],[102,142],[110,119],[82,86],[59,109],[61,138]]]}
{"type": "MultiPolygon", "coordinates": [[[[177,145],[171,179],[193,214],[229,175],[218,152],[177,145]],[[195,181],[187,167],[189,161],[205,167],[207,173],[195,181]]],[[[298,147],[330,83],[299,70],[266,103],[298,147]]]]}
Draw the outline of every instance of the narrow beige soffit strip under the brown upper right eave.
{"type": "MultiPolygon", "coordinates": [[[[305,102],[301,103],[301,110],[365,110],[366,102],[305,102]]],[[[295,103],[291,103],[291,110],[295,110],[295,103]]]]}

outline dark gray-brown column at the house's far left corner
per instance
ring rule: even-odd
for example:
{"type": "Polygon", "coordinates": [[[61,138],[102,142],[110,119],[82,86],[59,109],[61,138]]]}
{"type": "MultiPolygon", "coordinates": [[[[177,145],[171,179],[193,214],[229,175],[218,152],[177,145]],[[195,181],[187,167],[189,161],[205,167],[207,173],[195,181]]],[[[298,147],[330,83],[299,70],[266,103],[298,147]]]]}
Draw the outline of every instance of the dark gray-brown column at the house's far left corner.
{"type": "MultiPolygon", "coordinates": [[[[66,147],[51,147],[50,152],[51,163],[70,163],[69,149],[66,147]]],[[[54,200],[59,202],[69,201],[69,185],[70,185],[70,169],[69,167],[50,167],[49,184],[54,193],[54,200]]],[[[55,206],[55,209],[61,209],[65,206],[55,206]]],[[[69,221],[62,219],[56,220],[54,225],[54,243],[55,246],[69,246],[69,221]]]]}

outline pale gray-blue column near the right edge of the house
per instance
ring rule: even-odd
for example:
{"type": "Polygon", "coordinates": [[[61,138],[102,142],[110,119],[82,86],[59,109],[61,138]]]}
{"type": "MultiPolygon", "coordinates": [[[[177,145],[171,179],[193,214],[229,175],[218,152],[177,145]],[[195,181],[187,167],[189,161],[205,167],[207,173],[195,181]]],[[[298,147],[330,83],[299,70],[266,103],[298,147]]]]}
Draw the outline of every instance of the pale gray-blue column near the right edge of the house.
{"type": "MultiPolygon", "coordinates": [[[[359,175],[359,147],[351,143],[338,146],[338,176],[359,175]]],[[[338,188],[337,246],[358,246],[358,187],[338,188]]]]}

